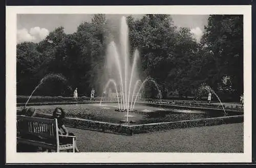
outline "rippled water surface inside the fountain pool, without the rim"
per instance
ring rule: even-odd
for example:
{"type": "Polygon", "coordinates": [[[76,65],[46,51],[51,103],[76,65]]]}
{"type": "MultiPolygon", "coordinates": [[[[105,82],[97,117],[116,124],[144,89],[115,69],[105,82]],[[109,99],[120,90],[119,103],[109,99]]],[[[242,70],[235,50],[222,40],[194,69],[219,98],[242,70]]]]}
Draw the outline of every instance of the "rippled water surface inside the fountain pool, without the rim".
{"type": "MultiPolygon", "coordinates": [[[[99,104],[57,104],[57,105],[38,105],[33,106],[36,108],[37,113],[51,115],[56,107],[61,107],[66,112],[66,117],[80,118],[100,122],[116,123],[119,124],[124,120],[126,122],[127,113],[123,111],[116,111],[115,103],[100,106],[99,104]]],[[[21,110],[23,107],[17,107],[21,110]]],[[[148,124],[148,123],[161,123],[161,122],[174,122],[182,120],[196,120],[202,118],[215,118],[223,116],[223,111],[201,111],[190,110],[180,107],[162,109],[152,106],[138,105],[138,111],[129,112],[129,123],[135,124],[148,124]],[[144,109],[144,110],[142,110],[144,109]],[[146,109],[146,111],[145,111],[146,109]],[[194,112],[193,112],[194,111],[194,112]]],[[[237,113],[228,113],[229,116],[237,115],[237,113]]]]}

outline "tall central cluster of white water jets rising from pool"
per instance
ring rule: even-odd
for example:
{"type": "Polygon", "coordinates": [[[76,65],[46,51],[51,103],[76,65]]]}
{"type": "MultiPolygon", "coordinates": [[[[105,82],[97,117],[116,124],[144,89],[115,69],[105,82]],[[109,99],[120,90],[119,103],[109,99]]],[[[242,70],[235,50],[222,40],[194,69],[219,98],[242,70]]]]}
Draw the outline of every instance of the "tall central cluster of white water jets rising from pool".
{"type": "MultiPolygon", "coordinates": [[[[133,54],[133,64],[132,67],[130,66],[130,57],[129,57],[129,29],[126,23],[126,18],[121,18],[121,29],[120,29],[120,42],[117,45],[114,41],[110,42],[106,54],[106,59],[109,61],[107,62],[107,66],[109,69],[109,76],[111,76],[111,80],[106,83],[104,90],[109,86],[109,82],[113,82],[117,97],[117,84],[119,85],[119,92],[120,92],[120,102],[118,99],[118,109],[119,111],[126,111],[127,118],[126,123],[128,123],[129,111],[135,111],[134,105],[136,103],[138,94],[143,87],[146,81],[152,81],[155,83],[157,90],[159,88],[156,82],[152,78],[146,78],[142,83],[137,91],[135,100],[134,95],[138,88],[139,82],[141,80],[138,77],[138,70],[137,70],[137,61],[139,59],[139,51],[135,49],[133,54]],[[113,63],[115,64],[113,66],[113,63]],[[118,81],[118,82],[116,82],[118,81]],[[134,101],[133,101],[134,100],[134,101]]],[[[101,104],[101,102],[100,102],[101,104]]]]}

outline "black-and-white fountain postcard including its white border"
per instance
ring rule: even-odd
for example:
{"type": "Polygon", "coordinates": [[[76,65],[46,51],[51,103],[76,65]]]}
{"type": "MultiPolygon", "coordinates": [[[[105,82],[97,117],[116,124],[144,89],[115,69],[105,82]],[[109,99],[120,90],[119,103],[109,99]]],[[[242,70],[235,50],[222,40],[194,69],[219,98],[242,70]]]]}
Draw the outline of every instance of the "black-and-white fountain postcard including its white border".
{"type": "Polygon", "coordinates": [[[249,6],[7,8],[7,157],[251,161],[250,18],[249,6]]]}

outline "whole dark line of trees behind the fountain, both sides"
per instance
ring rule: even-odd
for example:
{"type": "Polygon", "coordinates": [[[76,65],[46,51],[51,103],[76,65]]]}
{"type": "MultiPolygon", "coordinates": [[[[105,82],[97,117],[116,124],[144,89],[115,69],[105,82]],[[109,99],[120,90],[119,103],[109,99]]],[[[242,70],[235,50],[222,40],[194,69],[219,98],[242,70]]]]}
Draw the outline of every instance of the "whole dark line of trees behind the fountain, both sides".
{"type": "MultiPolygon", "coordinates": [[[[151,76],[166,95],[195,96],[203,83],[235,98],[243,92],[242,15],[210,15],[200,43],[188,28],[175,26],[170,15],[126,20],[130,51],[137,48],[140,53],[140,78],[151,76]]],[[[96,14],[73,34],[60,26],[38,43],[17,44],[17,95],[30,95],[44,76],[53,73],[66,79],[65,87],[52,87],[67,90],[52,92],[58,96],[71,95],[74,88],[79,95],[89,95],[91,88],[101,92],[106,46],[118,29],[104,14],[96,14]]],[[[35,94],[49,95],[41,90],[35,94]]]]}

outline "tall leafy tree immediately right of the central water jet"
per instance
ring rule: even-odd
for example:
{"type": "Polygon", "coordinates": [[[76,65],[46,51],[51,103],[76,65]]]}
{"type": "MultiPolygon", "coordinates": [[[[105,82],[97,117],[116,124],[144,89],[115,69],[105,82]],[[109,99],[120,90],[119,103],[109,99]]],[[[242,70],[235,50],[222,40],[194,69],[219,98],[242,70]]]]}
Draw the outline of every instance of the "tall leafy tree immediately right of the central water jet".
{"type": "MultiPolygon", "coordinates": [[[[169,15],[145,15],[140,20],[127,18],[130,27],[131,48],[138,48],[141,54],[142,78],[151,75],[165,88],[168,71],[173,68],[175,30],[169,15]]],[[[165,90],[165,89],[163,89],[165,90]]]]}

